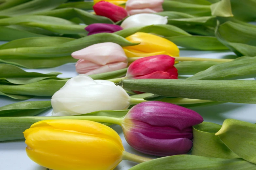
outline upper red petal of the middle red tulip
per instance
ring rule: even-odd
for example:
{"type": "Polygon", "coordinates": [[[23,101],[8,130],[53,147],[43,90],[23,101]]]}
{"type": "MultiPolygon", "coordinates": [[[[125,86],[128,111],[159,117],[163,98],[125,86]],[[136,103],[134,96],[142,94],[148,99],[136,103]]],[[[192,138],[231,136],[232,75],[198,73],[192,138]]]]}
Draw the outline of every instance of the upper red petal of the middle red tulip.
{"type": "MultiPolygon", "coordinates": [[[[170,68],[174,67],[174,62],[175,58],[168,55],[156,55],[141,58],[129,65],[126,76],[128,78],[136,78],[144,75],[149,75],[157,71],[166,72],[170,68]]],[[[166,73],[159,75],[165,76],[165,78],[168,76],[166,73]]],[[[178,75],[178,73],[176,73],[175,75],[178,75]]],[[[170,78],[170,76],[171,75],[169,75],[168,78],[170,78]]]]}

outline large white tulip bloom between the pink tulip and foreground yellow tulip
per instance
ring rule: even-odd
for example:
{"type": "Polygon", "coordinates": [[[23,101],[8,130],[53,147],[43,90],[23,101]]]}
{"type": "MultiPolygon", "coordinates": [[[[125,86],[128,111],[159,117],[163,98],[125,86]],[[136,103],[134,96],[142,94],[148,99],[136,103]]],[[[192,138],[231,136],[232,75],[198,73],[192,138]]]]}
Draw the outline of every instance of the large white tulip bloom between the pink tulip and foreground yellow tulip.
{"type": "Polygon", "coordinates": [[[71,78],[52,96],[52,116],[72,116],[99,110],[123,110],[130,105],[127,92],[107,80],[85,74],[71,78]]]}

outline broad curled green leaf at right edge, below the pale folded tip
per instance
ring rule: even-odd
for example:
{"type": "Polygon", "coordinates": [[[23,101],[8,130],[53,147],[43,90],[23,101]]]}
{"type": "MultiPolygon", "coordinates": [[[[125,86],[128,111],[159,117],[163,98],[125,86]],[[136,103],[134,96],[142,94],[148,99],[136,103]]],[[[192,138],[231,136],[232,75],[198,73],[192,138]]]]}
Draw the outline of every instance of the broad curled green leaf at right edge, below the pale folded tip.
{"type": "Polygon", "coordinates": [[[256,56],[256,27],[227,21],[218,24],[215,35],[238,56],[256,56]],[[241,36],[243,35],[243,36],[241,36]]]}

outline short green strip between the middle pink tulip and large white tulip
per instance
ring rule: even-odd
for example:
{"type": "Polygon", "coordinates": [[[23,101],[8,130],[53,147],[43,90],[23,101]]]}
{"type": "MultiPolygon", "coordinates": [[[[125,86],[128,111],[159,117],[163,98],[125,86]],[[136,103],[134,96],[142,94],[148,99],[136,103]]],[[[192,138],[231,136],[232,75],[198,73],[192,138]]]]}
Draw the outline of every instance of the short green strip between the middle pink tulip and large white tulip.
{"type": "Polygon", "coordinates": [[[108,79],[112,79],[112,78],[119,78],[119,77],[124,77],[126,75],[127,69],[128,68],[123,68],[123,69],[120,69],[117,71],[93,74],[93,75],[89,75],[89,76],[91,78],[93,78],[94,80],[96,80],[96,79],[108,80],[108,79]]]}

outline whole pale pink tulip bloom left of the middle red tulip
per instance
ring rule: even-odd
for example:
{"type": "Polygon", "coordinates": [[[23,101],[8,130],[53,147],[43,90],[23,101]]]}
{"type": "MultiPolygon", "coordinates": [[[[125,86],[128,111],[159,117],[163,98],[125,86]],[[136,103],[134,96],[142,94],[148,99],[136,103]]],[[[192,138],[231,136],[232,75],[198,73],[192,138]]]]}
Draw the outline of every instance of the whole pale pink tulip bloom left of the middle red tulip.
{"type": "Polygon", "coordinates": [[[105,73],[127,67],[124,50],[120,45],[112,42],[94,44],[71,55],[79,59],[76,64],[76,71],[79,74],[105,73]]]}

